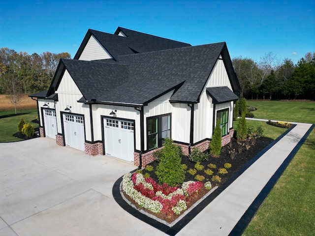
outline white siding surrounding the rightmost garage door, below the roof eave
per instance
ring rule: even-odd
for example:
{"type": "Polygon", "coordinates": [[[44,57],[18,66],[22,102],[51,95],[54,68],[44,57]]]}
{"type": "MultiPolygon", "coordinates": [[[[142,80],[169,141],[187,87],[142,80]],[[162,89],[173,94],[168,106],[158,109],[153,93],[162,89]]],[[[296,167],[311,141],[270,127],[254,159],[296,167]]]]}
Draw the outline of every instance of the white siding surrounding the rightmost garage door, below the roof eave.
{"type": "MultiPolygon", "coordinates": [[[[111,106],[111,105],[92,105],[93,111],[93,133],[94,140],[102,140],[102,126],[101,116],[110,117],[113,119],[131,119],[134,120],[135,125],[135,143],[136,149],[141,149],[141,132],[140,132],[140,112],[136,111],[133,107],[111,106]],[[117,110],[116,115],[109,115],[113,110],[117,110]]],[[[105,147],[106,148],[106,147],[105,147]]]]}

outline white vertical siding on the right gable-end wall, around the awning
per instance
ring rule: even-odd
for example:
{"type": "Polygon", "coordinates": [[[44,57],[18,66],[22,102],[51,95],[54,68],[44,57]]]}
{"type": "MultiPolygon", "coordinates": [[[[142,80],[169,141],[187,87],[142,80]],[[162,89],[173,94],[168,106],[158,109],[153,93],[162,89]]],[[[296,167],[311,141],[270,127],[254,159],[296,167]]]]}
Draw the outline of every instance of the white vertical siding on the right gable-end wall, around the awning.
{"type": "MultiPolygon", "coordinates": [[[[206,138],[212,138],[214,104],[212,103],[212,98],[207,95],[206,88],[220,86],[227,86],[232,91],[232,86],[229,81],[223,60],[218,59],[214,69],[212,70],[207,80],[205,87],[202,89],[199,103],[194,105],[193,143],[197,143],[206,138]]],[[[217,105],[217,109],[219,107],[221,107],[221,104],[220,106],[217,105]]],[[[228,108],[230,107],[230,105],[224,105],[224,107],[228,108]]],[[[230,111],[232,111],[232,109],[230,109],[230,111]]],[[[233,116],[233,114],[230,113],[230,116],[233,116]]],[[[229,128],[230,127],[232,126],[229,124],[229,128]]]]}

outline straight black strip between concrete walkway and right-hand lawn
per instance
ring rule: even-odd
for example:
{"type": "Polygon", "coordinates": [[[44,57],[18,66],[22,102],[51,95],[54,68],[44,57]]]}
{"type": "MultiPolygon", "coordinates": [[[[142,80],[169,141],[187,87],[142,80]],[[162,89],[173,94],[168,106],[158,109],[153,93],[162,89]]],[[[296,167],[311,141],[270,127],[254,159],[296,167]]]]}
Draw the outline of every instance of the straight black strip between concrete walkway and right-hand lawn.
{"type": "Polygon", "coordinates": [[[259,207],[262,205],[264,200],[266,199],[267,195],[270,193],[270,191],[273,189],[275,184],[277,183],[278,179],[283,174],[286,167],[289,165],[297,151],[301,148],[301,146],[304,144],[307,137],[310,135],[312,130],[314,129],[315,124],[312,124],[312,126],[309,128],[309,130],[304,134],[302,139],[298,142],[298,144],[293,148],[293,150],[290,152],[290,154],[285,158],[284,162],[281,164],[281,166],[278,168],[278,170],[275,172],[275,174],[269,179],[269,181],[266,183],[266,185],[262,188],[258,196],[254,199],[251,206],[245,211],[241,219],[236,223],[232,231],[230,232],[229,236],[241,236],[247,226],[252,221],[252,218],[256,214],[259,207]]]}

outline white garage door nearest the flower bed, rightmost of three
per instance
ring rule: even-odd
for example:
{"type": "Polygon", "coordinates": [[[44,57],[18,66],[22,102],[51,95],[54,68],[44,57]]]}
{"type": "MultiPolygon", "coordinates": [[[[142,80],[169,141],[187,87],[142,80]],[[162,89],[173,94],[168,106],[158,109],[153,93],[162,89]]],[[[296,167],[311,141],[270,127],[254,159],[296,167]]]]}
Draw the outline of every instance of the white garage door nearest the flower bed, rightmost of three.
{"type": "Polygon", "coordinates": [[[134,123],[104,118],[104,145],[106,155],[133,162],[134,123]]]}

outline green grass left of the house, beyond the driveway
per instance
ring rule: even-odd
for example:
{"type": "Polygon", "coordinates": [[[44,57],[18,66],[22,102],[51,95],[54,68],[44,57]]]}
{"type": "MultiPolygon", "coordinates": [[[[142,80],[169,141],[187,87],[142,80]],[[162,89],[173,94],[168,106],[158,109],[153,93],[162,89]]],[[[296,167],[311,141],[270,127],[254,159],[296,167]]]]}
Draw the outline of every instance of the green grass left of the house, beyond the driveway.
{"type": "Polygon", "coordinates": [[[20,110],[16,116],[14,111],[2,111],[0,112],[0,117],[2,116],[9,117],[0,118],[0,142],[16,142],[22,140],[13,136],[13,134],[19,132],[18,123],[22,117],[25,119],[25,122],[31,123],[34,128],[38,127],[38,124],[31,122],[33,119],[37,118],[37,109],[20,110]]]}

